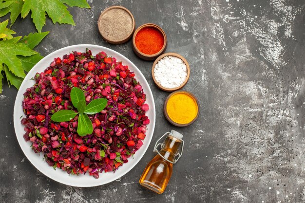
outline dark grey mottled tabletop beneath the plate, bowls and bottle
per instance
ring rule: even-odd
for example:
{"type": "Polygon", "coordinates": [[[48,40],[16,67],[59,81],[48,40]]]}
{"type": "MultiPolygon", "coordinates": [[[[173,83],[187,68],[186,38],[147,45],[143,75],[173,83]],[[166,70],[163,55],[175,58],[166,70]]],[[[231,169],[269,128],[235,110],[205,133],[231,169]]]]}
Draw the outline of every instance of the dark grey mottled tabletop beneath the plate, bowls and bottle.
{"type": "MultiPolygon", "coordinates": [[[[0,95],[0,202],[18,203],[301,203],[305,202],[304,0],[91,0],[91,9],[70,9],[76,26],[53,25],[38,45],[42,55],[73,44],[109,47],[127,56],[151,85],[156,104],[152,143],[121,179],[93,188],[59,184],[42,175],[19,148],[13,107],[17,94],[5,82],[0,95]],[[152,22],[167,34],[167,52],[191,66],[184,90],[197,95],[201,112],[190,127],[164,118],[166,96],[153,84],[152,62],[136,57],[131,41],[111,45],[99,36],[100,11],[122,5],[136,27],[152,22]],[[186,142],[162,195],[138,184],[161,134],[176,129],[186,142]]],[[[3,18],[2,18],[3,19],[3,18]]],[[[35,31],[30,18],[12,27],[35,31]]]]}

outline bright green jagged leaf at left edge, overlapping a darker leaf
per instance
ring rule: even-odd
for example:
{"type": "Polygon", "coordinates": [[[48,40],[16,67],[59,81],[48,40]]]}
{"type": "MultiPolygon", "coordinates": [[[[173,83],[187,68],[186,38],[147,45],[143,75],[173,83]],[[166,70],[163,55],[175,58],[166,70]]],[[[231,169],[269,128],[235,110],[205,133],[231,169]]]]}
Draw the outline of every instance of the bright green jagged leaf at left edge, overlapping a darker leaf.
{"type": "Polygon", "coordinates": [[[4,63],[16,76],[24,78],[22,63],[17,55],[30,56],[37,52],[31,50],[23,43],[16,43],[19,37],[0,41],[0,64],[4,63]]]}

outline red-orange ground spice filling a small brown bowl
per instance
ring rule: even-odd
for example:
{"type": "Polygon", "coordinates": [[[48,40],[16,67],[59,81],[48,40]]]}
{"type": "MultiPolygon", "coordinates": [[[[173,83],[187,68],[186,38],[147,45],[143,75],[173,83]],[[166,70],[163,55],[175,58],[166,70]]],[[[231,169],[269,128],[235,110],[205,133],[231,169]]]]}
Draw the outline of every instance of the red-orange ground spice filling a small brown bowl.
{"type": "Polygon", "coordinates": [[[142,28],[135,36],[135,46],[146,55],[158,53],[164,45],[162,33],[153,27],[142,28]]]}

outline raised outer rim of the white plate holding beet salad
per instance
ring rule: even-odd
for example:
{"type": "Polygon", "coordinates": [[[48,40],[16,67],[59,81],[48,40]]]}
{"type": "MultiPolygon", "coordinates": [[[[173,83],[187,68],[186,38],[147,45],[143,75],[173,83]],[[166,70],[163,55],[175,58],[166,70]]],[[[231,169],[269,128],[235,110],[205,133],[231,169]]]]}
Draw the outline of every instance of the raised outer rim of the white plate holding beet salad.
{"type": "MultiPolygon", "coordinates": [[[[115,58],[116,58],[117,56],[112,56],[112,57],[115,57],[115,58]]],[[[59,55],[58,55],[57,57],[62,58],[62,56],[59,56],[59,55]]],[[[45,68],[47,68],[47,67],[45,67],[45,68]]],[[[23,116],[24,116],[24,114],[23,114],[23,116]]],[[[115,181],[115,180],[121,178],[122,176],[126,175],[130,170],[132,170],[132,169],[134,168],[134,166],[136,166],[136,165],[139,163],[139,161],[143,158],[144,154],[146,153],[147,149],[148,149],[149,146],[150,146],[150,143],[151,143],[151,141],[152,141],[152,136],[153,136],[153,133],[154,133],[155,118],[156,118],[156,114],[155,114],[155,103],[154,103],[154,99],[153,99],[152,90],[151,90],[151,88],[150,88],[150,85],[149,85],[147,79],[146,79],[145,76],[142,74],[142,72],[140,71],[140,69],[139,69],[130,59],[128,59],[126,56],[124,56],[124,55],[118,53],[117,51],[115,51],[115,50],[113,50],[113,49],[110,49],[110,48],[107,48],[107,47],[104,47],[104,46],[99,46],[99,45],[94,45],[94,44],[76,44],[76,45],[71,45],[71,46],[62,47],[62,48],[57,49],[56,51],[51,52],[50,54],[46,55],[44,58],[42,58],[42,59],[41,59],[41,60],[40,60],[40,61],[39,61],[30,71],[29,71],[29,73],[28,73],[28,74],[25,76],[25,78],[23,79],[23,81],[22,81],[22,83],[21,83],[21,85],[20,85],[19,91],[17,92],[17,95],[16,95],[16,99],[15,99],[15,103],[14,103],[14,111],[13,111],[13,121],[14,121],[15,135],[16,135],[16,138],[17,138],[19,147],[21,148],[23,154],[24,154],[25,157],[29,160],[29,162],[30,162],[38,171],[40,171],[43,175],[45,175],[46,177],[48,177],[48,178],[50,178],[50,179],[52,179],[52,180],[54,180],[54,181],[56,181],[56,182],[58,182],[58,183],[61,183],[61,184],[64,184],[64,185],[76,186],[76,187],[94,187],[94,186],[99,186],[99,185],[105,185],[105,184],[111,183],[111,182],[113,182],[113,181],[115,181]],[[152,110],[152,118],[150,118],[151,123],[149,124],[149,125],[152,124],[151,127],[150,127],[151,130],[152,130],[152,132],[151,132],[151,136],[149,137],[149,140],[145,140],[145,141],[148,141],[148,143],[147,143],[147,145],[145,145],[145,146],[143,145],[143,147],[145,147],[143,153],[142,153],[142,154],[137,154],[137,156],[139,156],[138,159],[137,159],[130,167],[128,167],[127,169],[125,169],[125,171],[123,171],[121,174],[119,174],[117,177],[114,177],[113,179],[109,179],[109,180],[107,180],[107,181],[104,181],[103,183],[100,183],[100,182],[91,182],[91,184],[89,184],[89,185],[79,185],[79,184],[73,183],[73,182],[66,183],[65,181],[62,181],[60,178],[58,178],[58,179],[56,180],[56,179],[50,177],[50,176],[48,175],[48,173],[46,173],[45,171],[40,170],[40,169],[33,163],[34,160],[32,160],[31,158],[29,158],[30,154],[25,153],[25,150],[23,149],[23,145],[21,145],[21,142],[24,141],[24,139],[22,139],[22,138],[23,138],[23,135],[20,137],[20,136],[18,136],[18,134],[17,134],[17,127],[18,127],[18,126],[17,126],[17,125],[18,125],[17,123],[19,123],[20,125],[21,125],[21,123],[20,123],[19,116],[16,115],[16,114],[18,113],[18,112],[17,112],[17,109],[18,109],[18,108],[16,108],[16,107],[17,107],[18,105],[21,105],[21,104],[20,104],[20,101],[22,101],[22,96],[23,96],[23,93],[24,93],[24,92],[21,92],[20,90],[22,90],[22,89],[24,89],[24,88],[31,87],[31,86],[28,86],[28,85],[27,85],[27,81],[30,79],[31,75],[35,74],[35,72],[36,72],[35,69],[37,69],[37,67],[39,67],[40,64],[45,63],[45,60],[48,60],[48,58],[51,57],[50,55],[55,55],[56,53],[59,53],[59,52],[61,52],[61,51],[63,51],[63,50],[65,50],[65,51],[67,51],[67,52],[69,52],[69,51],[72,52],[72,51],[74,51],[75,49],[79,49],[79,48],[82,48],[82,47],[86,47],[86,48],[88,48],[89,50],[90,50],[90,49],[93,49],[93,48],[96,48],[96,49],[100,49],[101,51],[104,51],[104,52],[106,52],[106,53],[107,53],[108,51],[114,52],[117,56],[119,56],[120,58],[126,60],[128,63],[132,64],[133,67],[135,67],[135,69],[137,69],[138,72],[139,72],[139,74],[140,74],[138,77],[142,77],[144,83],[146,83],[146,85],[147,85],[147,87],[148,87],[148,90],[147,90],[148,92],[146,92],[146,94],[151,94],[151,99],[152,99],[152,107],[150,107],[150,110],[152,110]],[[19,97],[20,97],[21,100],[19,99],[19,97]],[[17,117],[18,117],[18,118],[17,118],[17,117]],[[17,121],[17,122],[16,122],[16,121],[17,121]],[[18,121],[19,121],[19,122],[18,122],[18,121]]],[[[33,151],[31,150],[31,152],[33,152],[33,151]]],[[[34,152],[33,152],[33,153],[34,153],[34,152]]],[[[35,153],[35,154],[36,154],[36,153],[35,153]]],[[[39,155],[39,157],[42,157],[42,156],[39,155]]],[[[46,162],[43,161],[43,160],[41,160],[41,163],[42,163],[42,164],[46,164],[46,162]]],[[[48,167],[51,167],[51,166],[48,166],[48,167]]],[[[60,169],[57,169],[57,170],[60,170],[60,169]]],[[[62,171],[62,170],[60,170],[60,171],[62,171]]],[[[63,172],[65,172],[65,171],[63,171],[63,172]]],[[[65,172],[65,173],[66,173],[66,172],[65,172]]],[[[66,173],[66,174],[67,174],[67,173],[66,173]]],[[[107,173],[103,172],[103,173],[101,173],[101,174],[107,174],[107,173]]],[[[86,174],[86,175],[87,175],[87,174],[86,174]]],[[[81,177],[79,177],[79,178],[81,178],[81,177]]],[[[92,177],[92,178],[93,178],[93,177],[92,177]]],[[[96,180],[98,180],[98,179],[96,179],[96,180]]]]}

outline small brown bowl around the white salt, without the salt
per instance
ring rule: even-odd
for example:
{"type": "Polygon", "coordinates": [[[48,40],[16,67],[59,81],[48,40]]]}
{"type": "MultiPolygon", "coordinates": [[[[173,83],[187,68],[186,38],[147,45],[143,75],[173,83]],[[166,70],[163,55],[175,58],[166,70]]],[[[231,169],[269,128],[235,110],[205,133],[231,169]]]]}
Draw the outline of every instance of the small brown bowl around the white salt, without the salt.
{"type": "Polygon", "coordinates": [[[182,56],[182,55],[179,55],[179,54],[176,54],[176,53],[172,53],[172,52],[169,52],[169,53],[165,53],[163,55],[160,55],[152,64],[152,79],[153,79],[153,82],[156,84],[156,86],[158,88],[160,88],[161,90],[163,91],[166,91],[166,92],[173,92],[173,91],[176,91],[176,90],[179,90],[181,89],[183,86],[185,86],[185,84],[187,84],[188,80],[190,78],[190,65],[188,63],[188,61],[182,56]],[[162,58],[164,58],[165,56],[176,56],[178,58],[180,58],[184,63],[185,65],[187,66],[187,77],[185,79],[185,81],[179,86],[179,87],[176,87],[176,88],[166,88],[166,87],[163,87],[155,78],[155,75],[154,75],[154,67],[156,66],[156,64],[158,63],[159,60],[161,60],[162,58]]]}

